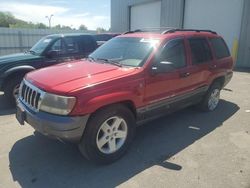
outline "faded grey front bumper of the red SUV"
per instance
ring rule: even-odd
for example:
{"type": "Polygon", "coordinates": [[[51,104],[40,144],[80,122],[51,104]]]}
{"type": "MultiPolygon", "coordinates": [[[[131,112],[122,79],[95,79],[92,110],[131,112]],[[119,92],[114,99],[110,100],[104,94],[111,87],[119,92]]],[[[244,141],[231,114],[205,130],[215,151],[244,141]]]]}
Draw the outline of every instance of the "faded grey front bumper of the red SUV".
{"type": "Polygon", "coordinates": [[[89,115],[70,117],[34,112],[19,100],[17,108],[23,112],[24,121],[36,131],[48,137],[76,143],[80,142],[89,118],[89,115]]]}

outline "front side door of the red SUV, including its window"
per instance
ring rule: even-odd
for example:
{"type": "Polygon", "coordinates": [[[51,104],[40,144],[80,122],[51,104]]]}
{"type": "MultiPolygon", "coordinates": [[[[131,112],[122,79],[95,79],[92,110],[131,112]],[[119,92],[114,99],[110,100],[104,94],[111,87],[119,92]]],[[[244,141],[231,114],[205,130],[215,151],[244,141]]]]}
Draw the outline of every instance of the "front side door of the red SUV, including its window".
{"type": "Polygon", "coordinates": [[[183,38],[170,40],[156,58],[153,67],[159,64],[171,64],[172,70],[149,74],[146,78],[145,103],[150,109],[168,106],[169,100],[181,100],[182,95],[190,89],[186,47],[183,38]]]}

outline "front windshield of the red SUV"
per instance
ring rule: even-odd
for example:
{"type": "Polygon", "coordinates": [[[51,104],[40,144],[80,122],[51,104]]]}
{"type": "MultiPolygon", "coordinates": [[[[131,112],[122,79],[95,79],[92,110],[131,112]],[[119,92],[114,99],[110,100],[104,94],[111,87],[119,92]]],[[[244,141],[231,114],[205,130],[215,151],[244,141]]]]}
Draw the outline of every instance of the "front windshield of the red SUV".
{"type": "Polygon", "coordinates": [[[158,42],[155,39],[134,37],[113,38],[90,54],[90,57],[95,60],[106,59],[121,65],[138,67],[158,42]]]}

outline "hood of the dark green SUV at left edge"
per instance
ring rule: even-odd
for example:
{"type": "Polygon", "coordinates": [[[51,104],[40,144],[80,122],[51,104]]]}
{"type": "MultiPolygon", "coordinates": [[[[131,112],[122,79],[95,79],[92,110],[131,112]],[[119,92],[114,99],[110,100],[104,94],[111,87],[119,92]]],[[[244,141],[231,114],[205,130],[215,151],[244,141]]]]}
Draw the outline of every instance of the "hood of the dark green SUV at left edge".
{"type": "Polygon", "coordinates": [[[27,60],[34,60],[40,58],[39,56],[32,55],[30,53],[18,53],[18,54],[11,54],[0,56],[0,64],[11,63],[11,62],[18,62],[18,61],[27,61],[27,60]]]}

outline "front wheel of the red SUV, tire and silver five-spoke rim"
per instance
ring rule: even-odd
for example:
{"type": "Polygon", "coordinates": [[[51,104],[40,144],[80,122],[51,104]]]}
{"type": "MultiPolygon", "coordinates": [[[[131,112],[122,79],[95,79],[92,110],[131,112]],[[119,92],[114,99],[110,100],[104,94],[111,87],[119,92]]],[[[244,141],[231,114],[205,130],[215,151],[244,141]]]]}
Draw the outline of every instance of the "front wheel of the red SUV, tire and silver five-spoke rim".
{"type": "Polygon", "coordinates": [[[133,113],[123,105],[112,105],[90,118],[78,147],[81,154],[94,163],[109,164],[125,154],[134,134],[133,113]]]}

